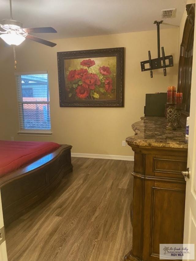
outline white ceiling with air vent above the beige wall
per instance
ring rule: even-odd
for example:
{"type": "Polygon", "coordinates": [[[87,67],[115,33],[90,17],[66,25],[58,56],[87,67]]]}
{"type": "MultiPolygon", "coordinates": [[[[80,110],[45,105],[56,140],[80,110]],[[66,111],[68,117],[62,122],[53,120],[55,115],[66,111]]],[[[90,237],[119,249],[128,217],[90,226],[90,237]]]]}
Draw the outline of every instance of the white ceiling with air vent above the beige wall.
{"type": "MultiPolygon", "coordinates": [[[[13,19],[24,28],[52,26],[56,34],[45,39],[106,35],[156,30],[161,10],[177,8],[176,18],[164,20],[179,26],[186,0],[12,0],[13,19]]],[[[0,20],[9,18],[9,0],[0,1],[0,20]]],[[[161,29],[171,27],[161,25],[161,29]]]]}

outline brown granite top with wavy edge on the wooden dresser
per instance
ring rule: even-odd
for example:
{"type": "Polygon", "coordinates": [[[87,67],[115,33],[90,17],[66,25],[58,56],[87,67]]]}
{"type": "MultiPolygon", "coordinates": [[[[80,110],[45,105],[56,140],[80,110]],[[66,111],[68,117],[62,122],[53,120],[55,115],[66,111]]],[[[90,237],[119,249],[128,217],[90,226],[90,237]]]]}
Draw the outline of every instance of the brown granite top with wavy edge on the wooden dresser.
{"type": "Polygon", "coordinates": [[[185,128],[166,129],[165,117],[141,117],[141,121],[132,124],[135,136],[126,138],[128,145],[150,147],[188,148],[185,128]]]}

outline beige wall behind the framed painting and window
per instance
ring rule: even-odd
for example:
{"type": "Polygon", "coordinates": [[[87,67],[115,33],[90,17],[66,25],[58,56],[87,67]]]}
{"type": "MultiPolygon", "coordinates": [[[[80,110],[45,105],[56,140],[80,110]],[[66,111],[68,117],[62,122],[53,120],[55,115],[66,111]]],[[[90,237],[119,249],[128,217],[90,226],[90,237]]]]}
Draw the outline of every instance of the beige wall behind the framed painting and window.
{"type": "Polygon", "coordinates": [[[108,155],[133,155],[122,140],[134,135],[131,124],[143,116],[145,94],[165,92],[168,85],[177,84],[179,28],[160,31],[165,54],[172,54],[174,67],[142,72],[140,62],[157,57],[156,30],[116,35],[54,40],[50,48],[26,40],[16,48],[17,72],[48,71],[51,100],[51,137],[20,136],[17,115],[17,95],[11,47],[1,45],[0,57],[0,138],[10,140],[55,141],[73,145],[72,152],[108,155]],[[111,47],[125,47],[125,106],[123,108],[60,108],[58,96],[57,52],[111,47]]]}

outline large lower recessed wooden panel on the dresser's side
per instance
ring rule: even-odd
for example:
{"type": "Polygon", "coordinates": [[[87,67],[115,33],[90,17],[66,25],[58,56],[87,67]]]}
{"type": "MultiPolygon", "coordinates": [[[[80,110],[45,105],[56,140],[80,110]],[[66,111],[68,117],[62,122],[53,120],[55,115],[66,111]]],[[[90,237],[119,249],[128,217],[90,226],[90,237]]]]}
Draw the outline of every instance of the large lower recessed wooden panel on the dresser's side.
{"type": "Polygon", "coordinates": [[[185,184],[145,180],[142,260],[159,260],[159,244],[183,243],[185,184]]]}

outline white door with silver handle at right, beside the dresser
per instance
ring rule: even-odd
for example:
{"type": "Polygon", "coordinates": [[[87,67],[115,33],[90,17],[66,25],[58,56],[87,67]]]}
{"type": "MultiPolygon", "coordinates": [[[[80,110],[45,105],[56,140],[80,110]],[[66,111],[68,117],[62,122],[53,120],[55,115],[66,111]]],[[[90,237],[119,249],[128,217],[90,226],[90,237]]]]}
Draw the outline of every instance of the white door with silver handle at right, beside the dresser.
{"type": "Polygon", "coordinates": [[[196,249],[196,26],[194,27],[193,50],[189,121],[190,127],[187,159],[187,167],[190,168],[190,178],[186,178],[184,244],[195,244],[196,249]]]}

